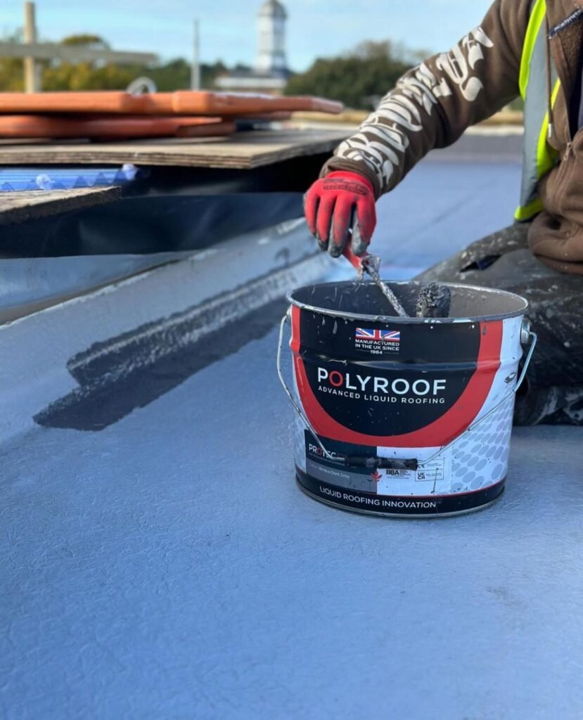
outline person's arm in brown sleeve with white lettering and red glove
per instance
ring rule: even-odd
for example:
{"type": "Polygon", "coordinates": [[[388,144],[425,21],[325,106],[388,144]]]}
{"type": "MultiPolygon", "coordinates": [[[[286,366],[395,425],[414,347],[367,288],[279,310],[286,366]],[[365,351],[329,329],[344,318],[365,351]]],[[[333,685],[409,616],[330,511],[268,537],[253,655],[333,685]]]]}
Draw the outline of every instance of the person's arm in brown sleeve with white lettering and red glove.
{"type": "MultiPolygon", "coordinates": [[[[361,199],[361,206],[370,205],[399,184],[430,150],[451,145],[467,127],[518,96],[530,4],[531,0],[496,0],[482,25],[448,53],[434,55],[407,72],[356,135],[337,148],[322,168],[320,181],[309,190],[306,203],[310,229],[331,254],[338,256],[343,250],[351,227],[345,222],[351,213],[344,207],[351,198],[347,195],[343,202],[342,191],[336,191],[333,200],[330,192],[334,190],[325,189],[341,187],[341,174],[356,174],[368,181],[372,192],[367,202],[361,199]],[[335,176],[333,184],[325,182],[330,173],[335,176]],[[324,217],[320,208],[331,208],[330,217],[324,217]],[[335,217],[339,210],[342,222],[335,217]],[[322,237],[326,228],[329,231],[322,237]],[[328,242],[329,235],[333,243],[328,242]]],[[[352,217],[356,222],[354,213],[352,217]]],[[[358,247],[353,243],[353,250],[362,252],[369,240],[368,233],[357,233],[358,247]]]]}

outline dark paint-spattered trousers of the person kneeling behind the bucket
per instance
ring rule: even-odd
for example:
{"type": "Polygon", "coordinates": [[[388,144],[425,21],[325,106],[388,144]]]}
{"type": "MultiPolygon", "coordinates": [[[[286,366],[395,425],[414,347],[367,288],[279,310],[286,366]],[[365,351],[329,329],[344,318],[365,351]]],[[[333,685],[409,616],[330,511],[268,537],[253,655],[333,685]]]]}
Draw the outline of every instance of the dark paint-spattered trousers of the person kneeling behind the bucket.
{"type": "Polygon", "coordinates": [[[515,423],[583,425],[583,277],[552,270],[528,249],[528,225],[472,243],[416,279],[495,287],[522,295],[538,346],[515,423]]]}

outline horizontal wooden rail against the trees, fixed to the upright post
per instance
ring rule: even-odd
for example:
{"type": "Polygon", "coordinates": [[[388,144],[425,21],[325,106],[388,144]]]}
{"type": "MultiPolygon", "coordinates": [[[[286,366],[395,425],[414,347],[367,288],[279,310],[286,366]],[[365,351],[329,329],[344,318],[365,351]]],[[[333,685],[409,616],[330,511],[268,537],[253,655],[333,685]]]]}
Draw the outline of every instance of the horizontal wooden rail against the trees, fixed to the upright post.
{"type": "Polygon", "coordinates": [[[92,50],[83,45],[60,45],[57,42],[0,42],[0,57],[35,58],[35,60],[65,60],[65,62],[93,62],[148,64],[155,63],[154,53],[133,53],[122,50],[92,50]]]}

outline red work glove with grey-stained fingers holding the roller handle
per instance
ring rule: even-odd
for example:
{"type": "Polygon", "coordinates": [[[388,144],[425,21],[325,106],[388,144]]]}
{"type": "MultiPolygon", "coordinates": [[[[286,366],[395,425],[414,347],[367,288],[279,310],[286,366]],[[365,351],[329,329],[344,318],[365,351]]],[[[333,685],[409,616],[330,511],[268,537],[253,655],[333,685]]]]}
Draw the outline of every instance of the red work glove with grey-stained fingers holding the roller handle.
{"type": "Polygon", "coordinates": [[[353,253],[362,255],[376,226],[373,186],[357,173],[335,171],[308,190],[304,212],[322,250],[338,258],[350,242],[353,253]]]}

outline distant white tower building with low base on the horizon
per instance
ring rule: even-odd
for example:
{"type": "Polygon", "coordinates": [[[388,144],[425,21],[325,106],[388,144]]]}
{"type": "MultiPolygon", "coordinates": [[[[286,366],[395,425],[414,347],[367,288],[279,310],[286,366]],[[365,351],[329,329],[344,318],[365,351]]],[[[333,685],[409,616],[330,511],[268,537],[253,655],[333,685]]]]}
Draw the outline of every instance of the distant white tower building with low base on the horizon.
{"type": "Polygon", "coordinates": [[[286,60],[286,19],[286,9],[279,0],[263,3],[257,14],[255,70],[217,78],[221,90],[281,94],[291,74],[286,60]]]}

